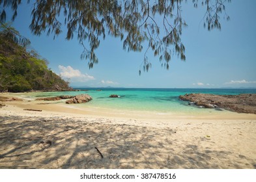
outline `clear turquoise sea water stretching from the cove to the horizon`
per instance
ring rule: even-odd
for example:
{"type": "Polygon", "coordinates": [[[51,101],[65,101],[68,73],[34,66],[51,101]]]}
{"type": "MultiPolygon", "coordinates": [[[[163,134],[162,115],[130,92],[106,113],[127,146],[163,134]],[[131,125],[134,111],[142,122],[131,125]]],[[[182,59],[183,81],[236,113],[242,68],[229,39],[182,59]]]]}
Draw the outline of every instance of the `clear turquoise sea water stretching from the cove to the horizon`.
{"type": "MultiPolygon", "coordinates": [[[[152,112],[208,112],[208,109],[200,109],[188,105],[186,101],[180,101],[178,96],[190,93],[205,94],[253,94],[256,89],[164,89],[164,88],[76,88],[79,92],[35,92],[25,97],[51,97],[61,95],[89,94],[92,101],[83,103],[79,107],[94,107],[121,110],[147,110],[152,112]],[[97,91],[98,89],[102,91],[97,91]],[[109,98],[111,94],[117,94],[120,98],[109,98]]],[[[214,111],[211,112],[222,112],[214,111]]]]}

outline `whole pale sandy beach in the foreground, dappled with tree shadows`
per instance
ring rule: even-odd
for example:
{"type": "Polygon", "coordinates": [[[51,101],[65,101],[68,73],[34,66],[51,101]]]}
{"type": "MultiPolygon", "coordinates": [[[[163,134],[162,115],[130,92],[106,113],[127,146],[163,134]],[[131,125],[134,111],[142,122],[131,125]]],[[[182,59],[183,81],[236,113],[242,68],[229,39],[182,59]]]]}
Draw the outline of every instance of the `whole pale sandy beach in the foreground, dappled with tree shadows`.
{"type": "Polygon", "coordinates": [[[38,102],[0,109],[0,168],[256,168],[255,114],[172,116],[38,102]]]}

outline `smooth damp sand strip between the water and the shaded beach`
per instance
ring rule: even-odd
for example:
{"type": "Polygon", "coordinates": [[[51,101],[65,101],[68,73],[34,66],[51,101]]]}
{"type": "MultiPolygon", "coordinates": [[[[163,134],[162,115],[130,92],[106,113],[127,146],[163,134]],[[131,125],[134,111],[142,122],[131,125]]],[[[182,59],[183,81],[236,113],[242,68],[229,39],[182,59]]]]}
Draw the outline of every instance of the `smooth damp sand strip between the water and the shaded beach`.
{"type": "MultiPolygon", "coordinates": [[[[18,94],[5,93],[0,97],[21,98],[23,101],[8,101],[7,105],[22,109],[38,109],[43,112],[55,112],[59,114],[74,114],[80,116],[90,116],[93,118],[107,117],[125,120],[256,120],[256,114],[237,113],[229,110],[215,112],[214,109],[202,109],[203,112],[159,112],[152,110],[125,110],[112,109],[106,107],[91,107],[87,103],[67,105],[65,99],[59,101],[36,101],[31,98],[23,98],[18,94]]],[[[3,107],[5,108],[5,107],[3,107]]],[[[2,110],[4,110],[2,108],[2,110]]],[[[29,111],[31,112],[31,111],[29,111]]],[[[51,114],[51,113],[50,113],[51,114]]]]}

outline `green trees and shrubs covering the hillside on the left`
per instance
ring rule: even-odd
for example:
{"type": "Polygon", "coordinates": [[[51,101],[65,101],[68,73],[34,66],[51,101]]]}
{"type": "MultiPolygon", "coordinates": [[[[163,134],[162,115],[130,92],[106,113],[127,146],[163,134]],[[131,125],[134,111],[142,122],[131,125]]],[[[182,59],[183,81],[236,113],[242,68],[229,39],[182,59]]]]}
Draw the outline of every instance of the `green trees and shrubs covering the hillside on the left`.
{"type": "Polygon", "coordinates": [[[48,69],[47,60],[28,50],[29,44],[14,28],[1,25],[0,91],[68,90],[68,83],[48,69]]]}

